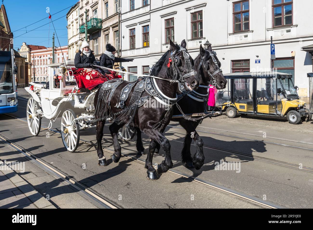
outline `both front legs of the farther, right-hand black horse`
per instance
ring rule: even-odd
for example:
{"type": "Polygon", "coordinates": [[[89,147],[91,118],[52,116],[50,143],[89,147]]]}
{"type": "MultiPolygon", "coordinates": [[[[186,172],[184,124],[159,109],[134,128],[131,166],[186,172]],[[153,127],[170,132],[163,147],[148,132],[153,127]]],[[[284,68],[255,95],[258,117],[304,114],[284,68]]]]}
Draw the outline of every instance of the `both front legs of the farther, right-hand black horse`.
{"type": "Polygon", "coordinates": [[[193,168],[194,166],[196,169],[200,169],[204,163],[204,155],[203,155],[203,140],[199,136],[195,128],[198,126],[198,122],[192,122],[192,121],[188,121],[185,119],[181,119],[179,121],[179,124],[187,132],[184,146],[182,149],[182,162],[186,163],[185,166],[187,168],[193,168]],[[197,148],[197,152],[193,156],[193,159],[190,153],[190,145],[191,145],[192,138],[197,148]]]}

